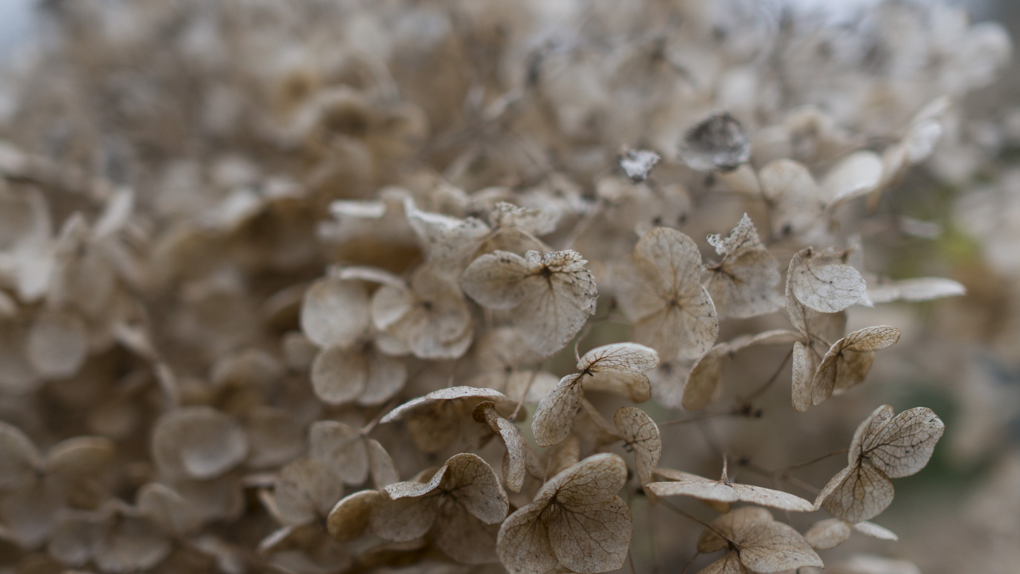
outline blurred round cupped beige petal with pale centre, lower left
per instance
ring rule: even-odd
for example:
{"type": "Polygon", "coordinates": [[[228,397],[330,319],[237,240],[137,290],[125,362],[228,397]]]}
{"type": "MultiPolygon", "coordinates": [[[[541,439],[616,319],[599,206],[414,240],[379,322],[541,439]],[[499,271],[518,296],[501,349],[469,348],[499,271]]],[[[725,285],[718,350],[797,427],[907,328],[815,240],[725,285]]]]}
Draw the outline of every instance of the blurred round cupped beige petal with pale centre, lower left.
{"type": "Polygon", "coordinates": [[[186,406],[156,420],[152,456],[170,476],[209,479],[244,461],[248,437],[234,419],[209,406],[186,406]]]}

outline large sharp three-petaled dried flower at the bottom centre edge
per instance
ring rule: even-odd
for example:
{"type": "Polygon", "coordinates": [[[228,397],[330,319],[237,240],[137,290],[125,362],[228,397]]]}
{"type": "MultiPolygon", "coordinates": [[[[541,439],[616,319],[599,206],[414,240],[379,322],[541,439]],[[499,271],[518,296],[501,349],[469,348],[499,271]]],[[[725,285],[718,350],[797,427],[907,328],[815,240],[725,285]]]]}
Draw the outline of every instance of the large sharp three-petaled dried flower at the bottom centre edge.
{"type": "Polygon", "coordinates": [[[500,562],[511,574],[544,574],[558,566],[597,574],[623,566],[633,525],[616,492],[627,477],[616,455],[589,457],[549,480],[531,504],[503,522],[500,562]]]}

